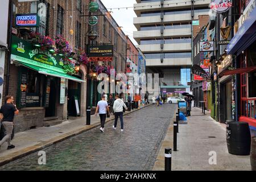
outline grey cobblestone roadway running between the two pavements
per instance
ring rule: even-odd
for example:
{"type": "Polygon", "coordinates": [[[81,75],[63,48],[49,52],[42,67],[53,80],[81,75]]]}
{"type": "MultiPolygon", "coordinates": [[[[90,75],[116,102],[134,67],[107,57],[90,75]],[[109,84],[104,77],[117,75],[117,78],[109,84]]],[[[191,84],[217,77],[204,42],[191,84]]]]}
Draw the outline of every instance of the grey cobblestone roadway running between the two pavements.
{"type": "Polygon", "coordinates": [[[124,131],[113,121],[44,148],[46,165],[38,152],[15,160],[0,170],[151,170],[174,114],[175,104],[148,106],[124,117],[124,131]]]}

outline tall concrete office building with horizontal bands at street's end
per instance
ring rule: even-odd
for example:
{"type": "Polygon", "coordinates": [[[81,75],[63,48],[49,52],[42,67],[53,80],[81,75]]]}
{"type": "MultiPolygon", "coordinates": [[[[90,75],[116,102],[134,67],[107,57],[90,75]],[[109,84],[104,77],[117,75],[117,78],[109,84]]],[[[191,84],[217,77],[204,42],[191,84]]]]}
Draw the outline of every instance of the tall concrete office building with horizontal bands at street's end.
{"type": "MultiPolygon", "coordinates": [[[[147,73],[159,73],[160,94],[190,92],[192,20],[208,15],[210,0],[137,0],[134,39],[146,56],[147,73]]],[[[158,94],[155,92],[154,95],[158,94]]]]}

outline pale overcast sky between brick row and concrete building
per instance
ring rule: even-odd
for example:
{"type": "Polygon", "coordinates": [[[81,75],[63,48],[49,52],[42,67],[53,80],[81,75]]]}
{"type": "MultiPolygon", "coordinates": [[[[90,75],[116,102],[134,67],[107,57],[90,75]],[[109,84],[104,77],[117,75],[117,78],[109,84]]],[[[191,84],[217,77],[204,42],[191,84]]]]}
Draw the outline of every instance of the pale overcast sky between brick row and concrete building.
{"type": "MultiPolygon", "coordinates": [[[[111,8],[118,8],[118,7],[133,7],[136,3],[135,0],[101,0],[104,3],[105,7],[110,11],[111,8]]],[[[118,25],[122,28],[122,31],[125,35],[128,35],[129,38],[133,41],[134,44],[138,44],[133,39],[133,31],[137,31],[137,28],[133,25],[133,18],[137,17],[133,11],[133,8],[128,9],[112,9],[113,11],[112,16],[118,25]]]]}

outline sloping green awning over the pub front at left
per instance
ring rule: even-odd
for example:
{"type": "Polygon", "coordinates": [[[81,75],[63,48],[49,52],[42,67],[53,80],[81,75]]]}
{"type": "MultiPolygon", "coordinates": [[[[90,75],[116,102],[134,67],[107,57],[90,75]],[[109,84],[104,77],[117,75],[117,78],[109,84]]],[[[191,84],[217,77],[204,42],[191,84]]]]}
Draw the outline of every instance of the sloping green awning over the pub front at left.
{"type": "Polygon", "coordinates": [[[24,67],[30,68],[30,69],[34,69],[35,71],[37,71],[38,73],[41,73],[43,75],[49,75],[49,76],[55,76],[55,77],[60,77],[60,78],[65,78],[68,80],[73,80],[73,81],[77,81],[77,82],[85,82],[84,80],[81,80],[75,76],[70,76],[67,75],[65,73],[60,73],[60,72],[56,72],[56,71],[52,71],[51,69],[46,69],[46,68],[41,68],[41,67],[37,67],[35,65],[31,65],[31,64],[27,64],[27,63],[20,63],[22,64],[24,67]]]}

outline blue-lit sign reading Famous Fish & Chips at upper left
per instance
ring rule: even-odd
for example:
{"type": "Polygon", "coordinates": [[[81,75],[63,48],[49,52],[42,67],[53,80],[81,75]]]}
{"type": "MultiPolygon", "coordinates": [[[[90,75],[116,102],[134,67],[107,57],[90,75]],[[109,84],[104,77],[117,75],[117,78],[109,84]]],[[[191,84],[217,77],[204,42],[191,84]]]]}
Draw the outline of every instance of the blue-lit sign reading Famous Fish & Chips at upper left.
{"type": "Polygon", "coordinates": [[[36,13],[16,14],[16,27],[39,27],[40,17],[36,13]]]}

